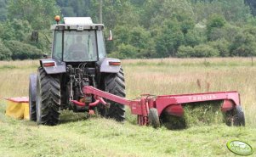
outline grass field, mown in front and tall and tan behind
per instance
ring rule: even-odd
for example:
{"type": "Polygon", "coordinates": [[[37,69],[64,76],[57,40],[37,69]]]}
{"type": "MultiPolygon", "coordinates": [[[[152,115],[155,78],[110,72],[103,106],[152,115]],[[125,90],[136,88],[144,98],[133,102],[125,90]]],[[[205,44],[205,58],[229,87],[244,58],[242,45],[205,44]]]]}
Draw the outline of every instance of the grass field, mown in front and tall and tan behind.
{"type": "MultiPolygon", "coordinates": [[[[59,126],[37,126],[6,117],[2,100],[0,156],[234,156],[225,146],[231,139],[256,149],[256,63],[251,59],[138,59],[122,64],[127,98],[140,93],[236,90],[241,94],[246,126],[155,130],[136,126],[128,112],[127,121],[121,124],[69,111],[62,112],[59,126]]],[[[37,61],[0,62],[0,98],[27,96],[28,76],[36,70],[37,61]]]]}

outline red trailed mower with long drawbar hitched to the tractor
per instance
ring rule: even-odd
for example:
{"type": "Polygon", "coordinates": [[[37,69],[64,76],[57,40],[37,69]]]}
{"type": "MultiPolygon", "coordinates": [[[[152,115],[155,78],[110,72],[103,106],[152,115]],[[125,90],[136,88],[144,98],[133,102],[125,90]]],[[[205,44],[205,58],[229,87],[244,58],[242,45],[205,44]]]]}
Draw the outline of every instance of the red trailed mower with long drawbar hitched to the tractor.
{"type": "Polygon", "coordinates": [[[88,105],[89,107],[94,107],[97,104],[107,105],[103,99],[105,98],[117,102],[118,104],[128,105],[131,109],[131,113],[133,115],[138,115],[139,126],[149,125],[151,122],[155,121],[157,124],[154,127],[157,127],[158,124],[160,125],[159,116],[163,111],[168,112],[169,115],[183,116],[184,109],[182,104],[223,100],[224,103],[221,107],[222,112],[235,109],[236,106],[240,106],[241,104],[240,95],[236,91],[162,96],[152,96],[150,94],[145,94],[136,100],[128,100],[127,98],[118,97],[91,86],[83,87],[83,93],[85,98],[94,96],[95,102],[91,104],[80,103],[77,101],[72,102],[79,106],[88,105]]]}

